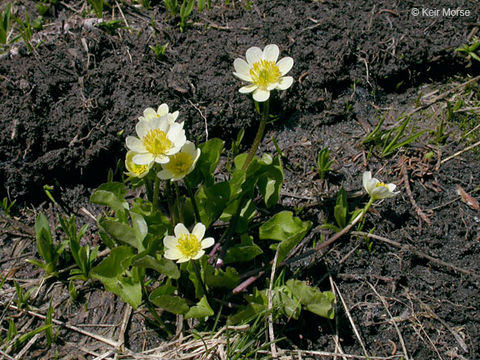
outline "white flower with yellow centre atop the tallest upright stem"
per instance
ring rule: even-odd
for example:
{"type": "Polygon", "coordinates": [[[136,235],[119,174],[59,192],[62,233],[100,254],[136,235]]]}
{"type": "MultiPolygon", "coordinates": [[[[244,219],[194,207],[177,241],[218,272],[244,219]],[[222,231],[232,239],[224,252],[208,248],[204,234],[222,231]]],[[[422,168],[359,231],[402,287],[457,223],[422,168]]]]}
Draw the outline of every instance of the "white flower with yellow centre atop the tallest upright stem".
{"type": "Polygon", "coordinates": [[[240,80],[251,83],[240,88],[242,94],[253,92],[253,99],[257,102],[267,101],[272,90],[286,90],[292,83],[291,76],[284,76],[293,66],[291,57],[278,60],[280,50],[275,44],[265,46],[265,49],[251,47],[247,50],[247,61],[237,58],[233,62],[233,75],[240,80]]]}

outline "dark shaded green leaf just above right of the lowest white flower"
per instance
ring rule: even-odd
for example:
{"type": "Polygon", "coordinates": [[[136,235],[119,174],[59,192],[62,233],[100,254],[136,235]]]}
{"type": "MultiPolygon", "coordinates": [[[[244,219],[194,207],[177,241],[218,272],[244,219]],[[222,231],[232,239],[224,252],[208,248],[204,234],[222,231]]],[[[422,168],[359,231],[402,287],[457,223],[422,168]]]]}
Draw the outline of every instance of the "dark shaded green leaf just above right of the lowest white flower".
{"type": "Polygon", "coordinates": [[[210,187],[201,186],[195,194],[200,221],[208,228],[217,220],[230,198],[228,182],[221,182],[210,187]]]}

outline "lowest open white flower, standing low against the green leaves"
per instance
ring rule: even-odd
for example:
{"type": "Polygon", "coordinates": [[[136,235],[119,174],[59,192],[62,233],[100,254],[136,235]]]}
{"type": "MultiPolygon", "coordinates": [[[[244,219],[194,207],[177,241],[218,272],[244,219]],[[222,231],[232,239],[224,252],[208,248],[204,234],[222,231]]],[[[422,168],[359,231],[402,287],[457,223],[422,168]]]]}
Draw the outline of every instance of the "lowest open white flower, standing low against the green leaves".
{"type": "Polygon", "coordinates": [[[200,259],[205,254],[206,248],[213,245],[215,240],[211,237],[203,238],[205,225],[197,223],[192,232],[183,224],[177,224],[174,229],[175,236],[167,235],[163,239],[165,257],[177,260],[177,263],[200,259]]]}

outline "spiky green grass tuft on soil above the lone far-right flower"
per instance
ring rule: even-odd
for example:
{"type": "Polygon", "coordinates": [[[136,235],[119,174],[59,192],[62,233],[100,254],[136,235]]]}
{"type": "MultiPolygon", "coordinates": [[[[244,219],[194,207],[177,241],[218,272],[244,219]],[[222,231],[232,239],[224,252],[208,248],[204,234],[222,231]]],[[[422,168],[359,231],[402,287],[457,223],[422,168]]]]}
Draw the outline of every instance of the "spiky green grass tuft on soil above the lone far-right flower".
{"type": "Polygon", "coordinates": [[[377,126],[363,139],[362,144],[373,143],[380,148],[381,157],[390,156],[425,133],[425,131],[419,131],[413,134],[406,134],[410,120],[410,116],[401,116],[397,125],[389,130],[384,130],[382,125],[385,117],[382,117],[377,126]]]}

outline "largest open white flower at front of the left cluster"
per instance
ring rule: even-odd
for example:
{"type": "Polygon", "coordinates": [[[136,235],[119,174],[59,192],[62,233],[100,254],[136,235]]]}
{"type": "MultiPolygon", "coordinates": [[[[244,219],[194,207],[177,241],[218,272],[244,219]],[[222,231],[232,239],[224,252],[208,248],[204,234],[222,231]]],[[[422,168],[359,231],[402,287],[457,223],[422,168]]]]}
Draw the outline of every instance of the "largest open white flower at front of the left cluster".
{"type": "Polygon", "coordinates": [[[137,165],[150,165],[154,162],[166,164],[170,156],[180,151],[187,141],[183,123],[171,123],[164,115],[150,120],[138,121],[135,130],[138,137],[127,136],[129,150],[136,152],[133,162],[137,165]]]}

